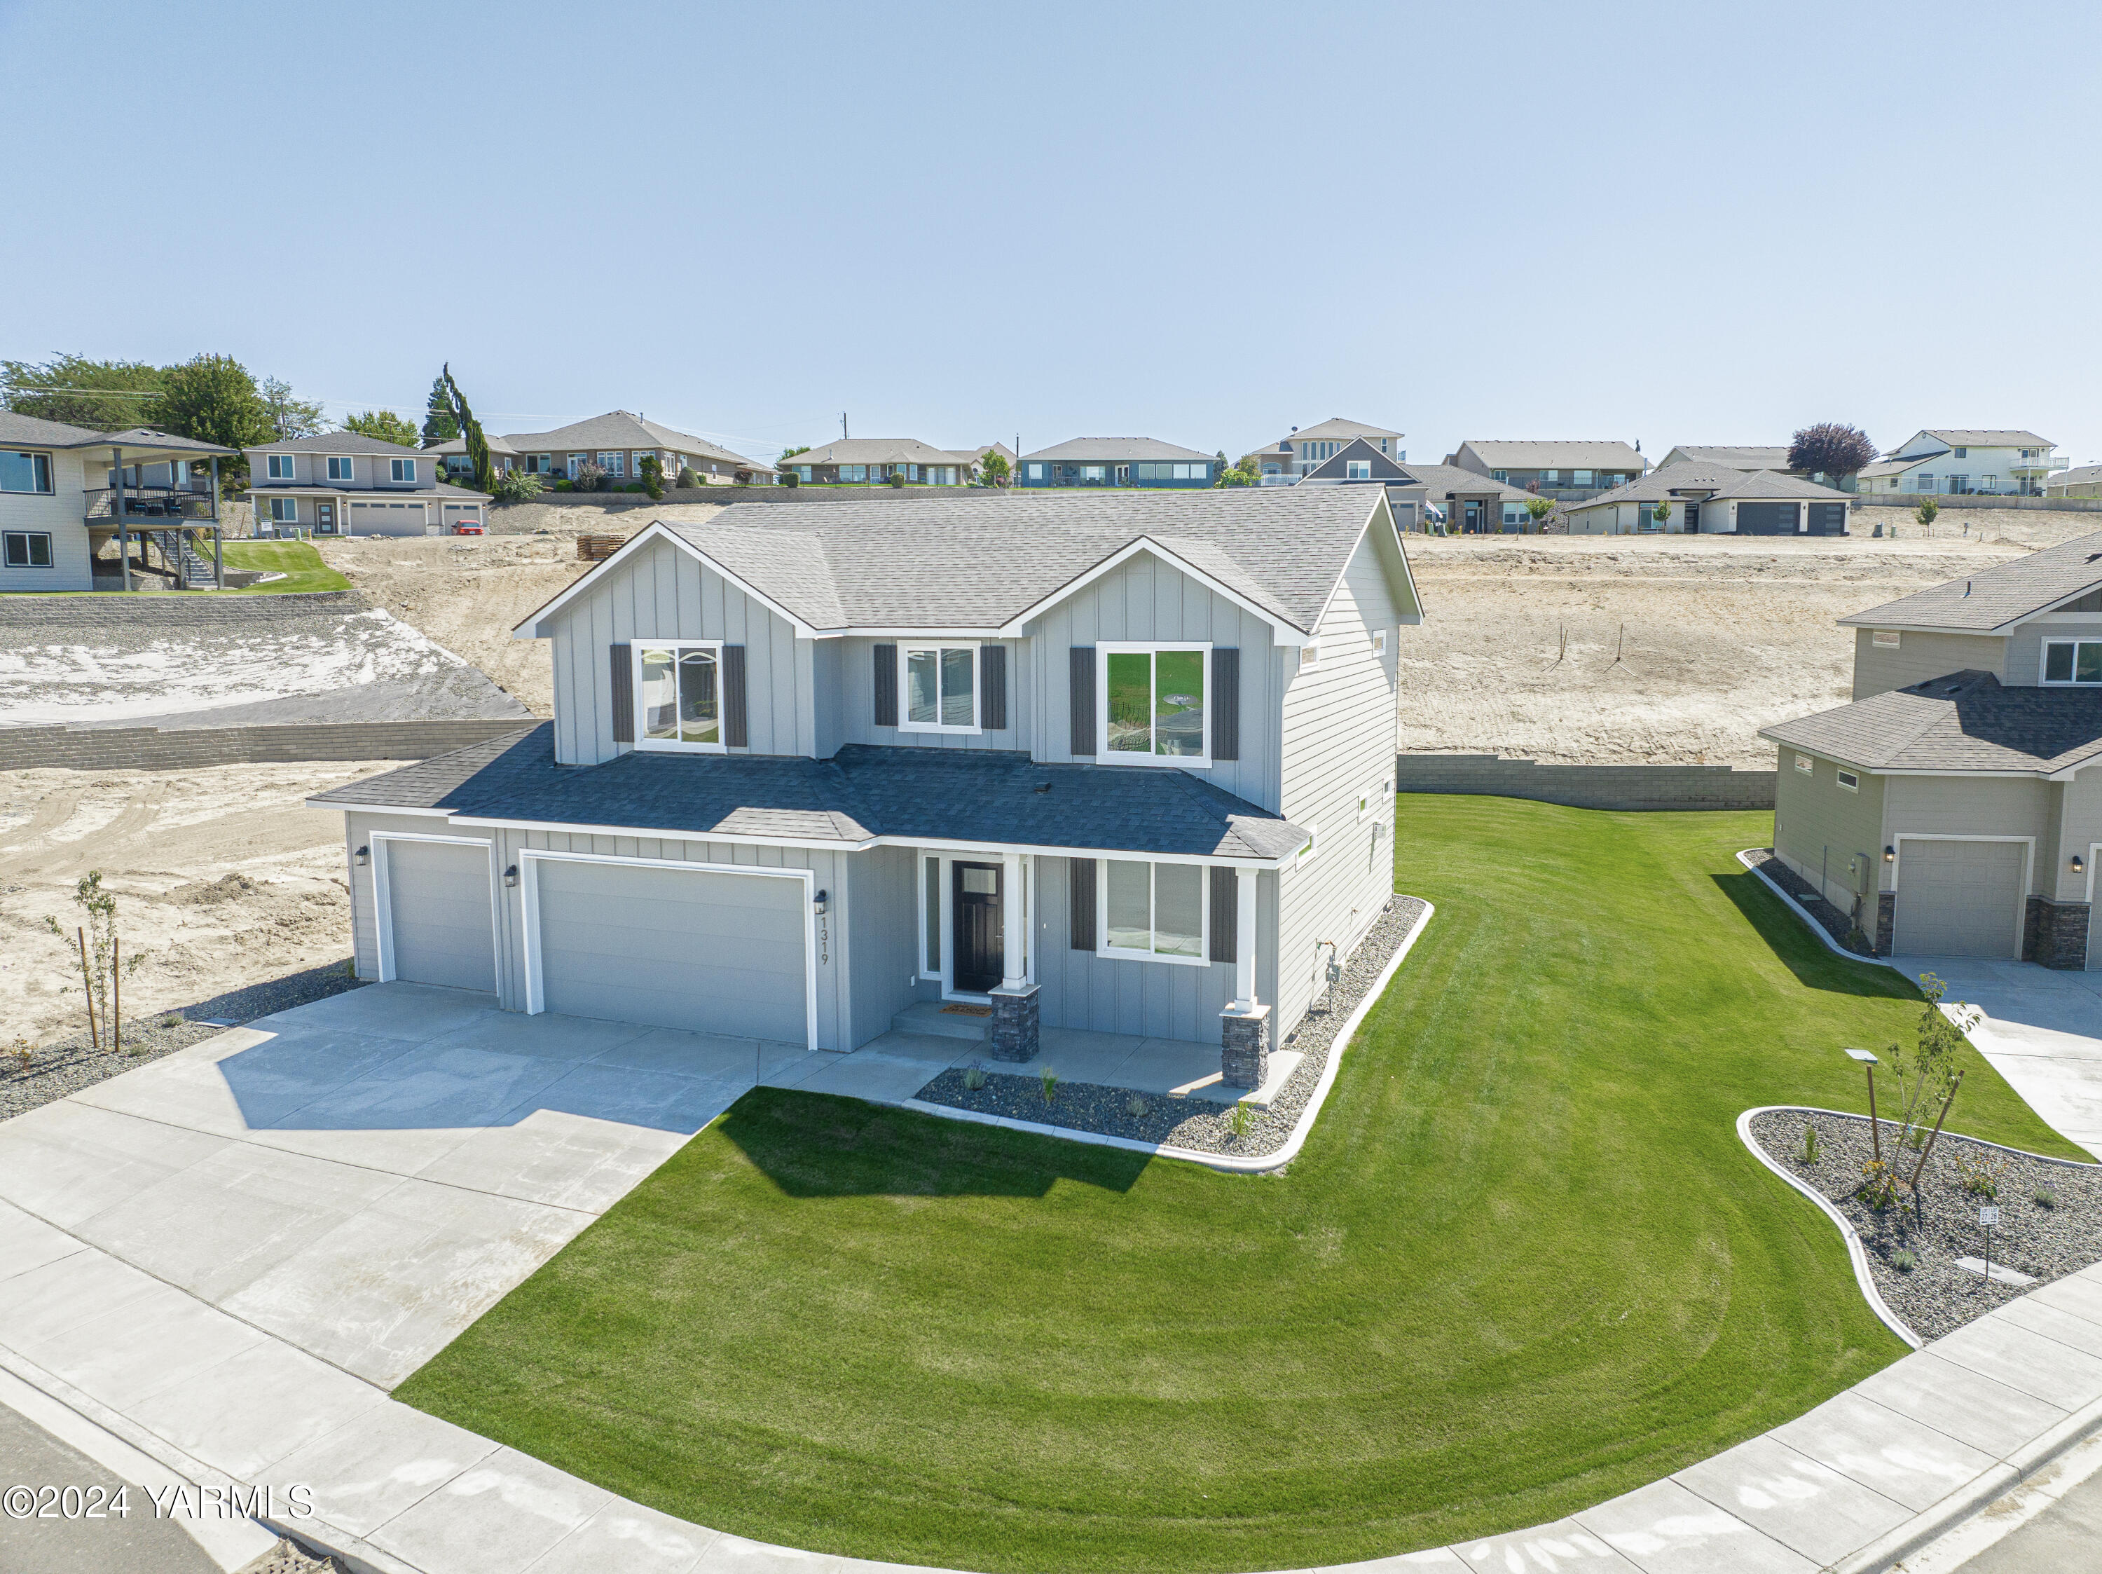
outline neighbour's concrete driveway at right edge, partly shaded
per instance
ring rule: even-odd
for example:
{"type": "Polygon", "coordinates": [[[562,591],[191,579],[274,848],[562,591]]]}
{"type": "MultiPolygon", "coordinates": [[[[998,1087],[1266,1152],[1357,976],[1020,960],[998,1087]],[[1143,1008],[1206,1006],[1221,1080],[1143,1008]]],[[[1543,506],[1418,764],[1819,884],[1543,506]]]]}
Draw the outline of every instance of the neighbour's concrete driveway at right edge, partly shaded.
{"type": "Polygon", "coordinates": [[[1982,1009],[1972,1042],[2028,1107],[2102,1158],[2102,973],[1967,956],[1894,956],[1909,979],[1938,973],[1946,1002],[1982,1009]]]}

